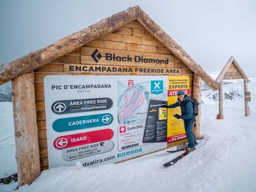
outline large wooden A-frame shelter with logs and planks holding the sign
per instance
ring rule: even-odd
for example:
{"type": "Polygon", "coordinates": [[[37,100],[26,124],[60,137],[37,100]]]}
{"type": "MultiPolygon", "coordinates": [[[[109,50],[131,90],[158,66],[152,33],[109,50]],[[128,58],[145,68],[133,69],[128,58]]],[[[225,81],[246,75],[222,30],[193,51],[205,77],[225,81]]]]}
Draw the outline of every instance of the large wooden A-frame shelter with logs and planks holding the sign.
{"type": "MultiPolygon", "coordinates": [[[[3,64],[0,66],[0,85],[12,80],[19,186],[32,183],[40,175],[41,170],[48,169],[43,78],[51,74],[90,75],[90,73],[66,71],[66,66],[95,65],[92,63],[94,61],[87,60],[92,60],[90,55],[84,54],[84,50],[95,48],[113,49],[119,52],[139,51],[155,56],[165,54],[163,56],[168,56],[172,61],[164,67],[184,69],[181,75],[189,75],[192,82],[191,96],[198,101],[201,95],[201,79],[213,90],[218,90],[218,83],[139,6],[130,7],[45,48],[3,64]],[[139,35],[136,36],[135,33],[139,35]],[[147,38],[144,39],[144,36],[147,38]]],[[[101,65],[100,62],[97,63],[98,65],[101,65]]],[[[108,64],[110,65],[112,64],[108,64]]],[[[148,66],[143,64],[143,67],[148,66]]],[[[151,67],[157,69],[161,66],[151,65],[151,67]]],[[[96,75],[102,74],[96,73],[96,75]]],[[[198,137],[200,114],[197,116],[195,127],[198,137]]]]}

